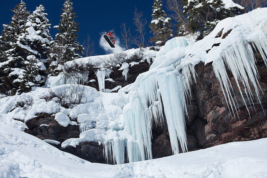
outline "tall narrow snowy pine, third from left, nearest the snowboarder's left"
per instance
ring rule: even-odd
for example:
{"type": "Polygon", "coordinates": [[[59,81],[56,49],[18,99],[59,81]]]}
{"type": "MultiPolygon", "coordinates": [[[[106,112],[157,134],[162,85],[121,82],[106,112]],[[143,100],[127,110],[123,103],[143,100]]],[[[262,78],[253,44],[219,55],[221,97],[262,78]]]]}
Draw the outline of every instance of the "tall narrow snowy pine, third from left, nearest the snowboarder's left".
{"type": "Polygon", "coordinates": [[[57,75],[60,69],[58,65],[63,65],[66,61],[80,58],[83,55],[83,46],[77,41],[79,27],[74,21],[75,12],[73,12],[73,3],[66,0],[62,9],[60,24],[54,26],[59,30],[55,41],[52,43],[52,50],[49,56],[50,73],[57,75]],[[80,53],[80,54],[79,54],[80,53]]]}

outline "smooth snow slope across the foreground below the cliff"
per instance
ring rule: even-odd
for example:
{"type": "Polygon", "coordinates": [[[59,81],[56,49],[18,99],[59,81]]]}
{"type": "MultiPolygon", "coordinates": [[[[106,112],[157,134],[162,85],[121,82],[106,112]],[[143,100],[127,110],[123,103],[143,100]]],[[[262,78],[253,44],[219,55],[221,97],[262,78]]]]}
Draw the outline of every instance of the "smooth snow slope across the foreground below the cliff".
{"type": "Polygon", "coordinates": [[[0,177],[267,177],[267,138],[122,165],[91,163],[0,127],[0,177]]]}

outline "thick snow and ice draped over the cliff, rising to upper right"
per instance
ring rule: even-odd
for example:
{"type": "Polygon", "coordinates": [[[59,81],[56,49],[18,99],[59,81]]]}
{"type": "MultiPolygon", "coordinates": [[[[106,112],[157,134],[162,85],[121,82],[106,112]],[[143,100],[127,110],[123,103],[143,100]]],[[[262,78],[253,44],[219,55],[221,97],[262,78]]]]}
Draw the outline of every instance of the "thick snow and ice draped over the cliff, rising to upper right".
{"type": "MultiPolygon", "coordinates": [[[[162,106],[164,106],[172,151],[174,154],[179,153],[180,143],[185,152],[187,150],[184,121],[187,102],[185,96],[191,95],[190,84],[198,77],[195,75],[194,66],[199,61],[205,64],[213,61],[214,72],[225,91],[230,110],[235,111],[235,107],[238,106],[235,105],[234,98],[231,98],[232,88],[223,63],[228,65],[236,82],[242,82],[250,100],[249,82],[253,83],[257,94],[261,92],[258,88],[259,81],[252,47],[248,43],[252,43],[259,49],[266,62],[264,52],[267,52],[267,16],[265,14],[267,14],[267,8],[226,18],[218,23],[213,32],[195,43],[187,37],[173,38],[160,51],[153,51],[155,59],[150,70],[140,74],[135,83],[121,88],[118,93],[97,92],[94,88],[85,86],[85,97],[81,104],[73,108],[62,107],[56,99],[46,101],[38,98],[49,92],[45,87],[37,87],[35,91],[27,94],[2,98],[0,99],[1,123],[23,130],[26,127],[25,124],[13,118],[27,121],[37,113],[61,112],[67,117],[77,118],[81,130],[80,138],[68,139],[62,143],[62,147],[68,145],[75,147],[83,141],[99,142],[104,145],[103,153],[106,157],[111,154],[117,164],[123,164],[128,161],[152,158],[151,124],[153,120],[156,123],[162,122],[162,106]],[[225,35],[225,38],[216,37],[219,32],[222,32],[222,36],[227,32],[229,34],[225,35]],[[217,45],[214,46],[214,44],[217,45]],[[24,97],[33,98],[33,104],[14,109],[12,103],[24,97]],[[128,160],[124,160],[125,149],[128,160]]],[[[101,57],[105,59],[107,56],[101,57]]],[[[99,61],[101,57],[80,58],[76,61],[99,61]]],[[[123,71],[126,69],[125,66],[121,68],[123,71]]],[[[100,88],[103,89],[103,81],[107,73],[101,72],[104,74],[99,75],[101,79],[99,81],[102,81],[100,88]]],[[[54,92],[71,87],[70,84],[65,85],[63,82],[56,81],[56,78],[48,81],[50,86],[54,86],[51,87],[54,92]],[[51,81],[56,81],[57,84],[52,85],[51,81]]],[[[71,80],[69,82],[75,83],[71,80]]],[[[253,105],[253,102],[251,104],[253,105]]],[[[67,124],[65,121],[68,121],[68,124],[73,123],[67,117],[63,119],[62,125],[67,124]]]]}

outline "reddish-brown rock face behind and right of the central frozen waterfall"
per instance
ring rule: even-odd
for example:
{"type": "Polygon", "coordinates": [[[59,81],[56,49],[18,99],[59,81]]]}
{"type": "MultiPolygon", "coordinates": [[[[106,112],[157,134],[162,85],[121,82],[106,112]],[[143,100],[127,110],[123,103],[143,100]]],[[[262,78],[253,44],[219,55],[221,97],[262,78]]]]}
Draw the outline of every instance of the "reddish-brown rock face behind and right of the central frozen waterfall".
{"type": "MultiPolygon", "coordinates": [[[[260,54],[256,51],[254,53],[261,78],[262,92],[260,98],[262,106],[255,92],[252,92],[254,106],[250,106],[244,87],[241,87],[249,112],[230,71],[227,73],[239,107],[235,113],[230,112],[227,107],[221,85],[213,72],[212,63],[204,65],[200,62],[195,66],[198,77],[197,82],[191,86],[193,95],[191,105],[187,106],[189,115],[186,117],[188,151],[228,142],[249,141],[267,137],[267,115],[265,115],[267,114],[267,68],[260,54]]],[[[251,88],[253,91],[252,86],[251,88]]],[[[234,95],[232,93],[233,97],[234,95]]],[[[170,152],[170,138],[166,130],[167,126],[163,125],[163,131],[159,133],[158,127],[153,126],[152,134],[158,134],[156,138],[153,137],[154,140],[152,141],[153,158],[172,155],[170,152]],[[162,153],[161,150],[166,151],[162,153]]]]}

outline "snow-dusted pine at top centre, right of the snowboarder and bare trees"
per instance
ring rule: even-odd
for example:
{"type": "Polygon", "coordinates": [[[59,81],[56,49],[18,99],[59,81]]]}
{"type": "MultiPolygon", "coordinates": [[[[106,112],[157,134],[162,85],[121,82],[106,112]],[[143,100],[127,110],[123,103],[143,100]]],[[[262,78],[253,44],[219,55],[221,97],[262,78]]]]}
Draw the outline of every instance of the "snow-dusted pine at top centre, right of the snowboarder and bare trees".
{"type": "Polygon", "coordinates": [[[153,37],[152,42],[164,45],[166,41],[172,37],[171,18],[167,17],[165,11],[162,9],[162,1],[155,0],[153,6],[152,21],[149,24],[153,37]]]}

